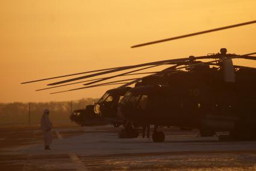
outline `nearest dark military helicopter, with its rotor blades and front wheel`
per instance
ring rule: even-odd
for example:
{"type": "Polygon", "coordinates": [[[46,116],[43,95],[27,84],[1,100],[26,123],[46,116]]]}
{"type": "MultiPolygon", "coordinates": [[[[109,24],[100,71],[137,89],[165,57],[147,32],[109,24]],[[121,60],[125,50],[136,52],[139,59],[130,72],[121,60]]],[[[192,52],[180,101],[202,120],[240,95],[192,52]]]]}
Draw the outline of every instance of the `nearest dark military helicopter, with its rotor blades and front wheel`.
{"type": "MultiPolygon", "coordinates": [[[[187,34],[184,36],[157,40],[154,42],[143,43],[140,45],[132,46],[132,48],[151,45],[154,43],[166,42],[169,40],[181,39],[184,37],[195,36],[198,34],[210,33],[213,31],[224,30],[224,29],[233,28],[236,26],[248,25],[255,22],[256,20],[251,22],[246,22],[246,23],[239,23],[231,26],[225,26],[222,28],[216,28],[213,30],[187,34]]],[[[54,87],[46,88],[46,89],[52,89],[55,87],[70,85],[70,84],[63,84],[70,81],[76,81],[79,79],[90,78],[92,76],[113,73],[113,72],[122,71],[126,69],[144,67],[142,69],[136,69],[136,70],[121,73],[115,76],[108,76],[108,77],[100,78],[96,80],[91,79],[90,80],[91,82],[84,84],[87,86],[80,87],[78,89],[70,89],[62,92],[54,92],[54,93],[63,93],[63,92],[69,92],[73,90],[81,90],[81,89],[88,89],[91,87],[110,85],[113,83],[118,84],[118,81],[115,81],[115,82],[107,82],[104,84],[90,85],[90,84],[95,84],[96,82],[105,81],[107,79],[116,78],[117,76],[128,75],[130,73],[137,72],[139,70],[149,69],[151,67],[173,65],[171,67],[167,67],[167,69],[157,72],[157,74],[146,76],[145,78],[137,78],[137,79],[134,79],[134,81],[128,82],[120,86],[120,88],[126,87],[128,85],[134,84],[142,80],[142,82],[138,83],[140,84],[140,86],[137,86],[133,89],[128,90],[128,93],[126,93],[124,98],[120,101],[118,105],[119,108],[117,111],[118,116],[132,123],[149,123],[149,124],[155,125],[155,131],[152,136],[154,141],[164,141],[163,132],[157,131],[157,128],[159,125],[189,126],[191,128],[201,129],[202,132],[228,130],[231,132],[231,134],[235,138],[254,138],[254,135],[252,134],[254,134],[256,129],[254,129],[254,127],[252,126],[252,123],[244,122],[244,120],[246,119],[254,120],[253,115],[249,114],[249,115],[246,115],[249,117],[242,117],[241,113],[245,112],[248,108],[250,108],[249,113],[252,112],[252,109],[251,109],[252,106],[246,105],[246,103],[243,102],[243,101],[246,101],[246,98],[243,95],[248,95],[248,96],[254,95],[254,92],[251,94],[250,93],[248,94],[246,90],[248,90],[248,87],[250,87],[248,82],[252,82],[251,85],[255,85],[253,83],[254,79],[249,79],[248,77],[248,75],[255,77],[255,73],[254,73],[255,69],[249,68],[249,67],[242,67],[242,66],[235,66],[235,69],[234,69],[234,66],[231,60],[233,58],[245,58],[249,60],[255,60],[256,57],[251,56],[254,54],[256,53],[250,53],[245,55],[226,54],[226,49],[223,48],[220,54],[213,54],[213,55],[207,55],[202,57],[189,57],[189,58],[179,58],[179,59],[173,59],[173,60],[155,61],[151,63],[137,64],[134,66],[123,66],[123,67],[114,67],[114,68],[101,69],[101,70],[93,70],[89,72],[75,73],[71,75],[63,75],[63,76],[56,76],[53,78],[45,78],[45,79],[39,79],[35,81],[28,81],[28,82],[23,82],[22,84],[36,82],[36,81],[45,81],[45,80],[54,79],[54,78],[62,78],[64,76],[98,72],[98,73],[93,73],[86,76],[80,76],[78,78],[72,78],[72,79],[67,79],[64,81],[58,81],[58,82],[48,84],[48,85],[57,85],[54,87]],[[214,59],[214,60],[208,61],[208,62],[197,61],[197,60],[203,60],[203,59],[214,59]],[[218,67],[210,67],[210,66],[218,66],[218,67]],[[184,71],[181,69],[187,69],[187,71],[184,71]],[[63,85],[58,85],[58,84],[63,84],[63,85]],[[239,90],[242,93],[239,94],[239,98],[234,98],[233,96],[236,95],[237,90],[239,90]],[[171,101],[170,99],[172,98],[170,97],[175,97],[173,99],[179,99],[179,100],[171,101]],[[214,100],[212,100],[211,98],[214,100]],[[167,99],[169,99],[170,101],[167,101],[167,99]],[[230,104],[232,105],[228,105],[228,109],[226,110],[219,110],[219,108],[222,108],[223,106],[224,106],[223,108],[226,107],[226,105],[223,105],[225,103],[218,101],[219,99],[225,99],[226,101],[230,102],[230,104]],[[239,99],[242,99],[243,101],[239,99]],[[223,113],[230,114],[231,113],[230,111],[234,111],[234,106],[236,106],[234,104],[237,104],[238,102],[240,104],[240,107],[242,108],[240,113],[236,112],[235,116],[231,114],[231,117],[227,117],[225,114],[223,115],[223,113]],[[210,108],[213,108],[213,109],[210,110],[210,108]],[[170,113],[170,110],[172,110],[173,113],[176,113],[176,114],[170,113]],[[218,111],[216,112],[217,114],[213,112],[214,110],[218,111]],[[230,111],[228,112],[228,110],[230,111]],[[210,112],[210,114],[205,114],[206,112],[210,112]],[[192,114],[189,115],[189,113],[192,113],[192,114]],[[218,115],[219,117],[217,117],[218,115]],[[211,119],[209,119],[209,117],[211,119]],[[224,126],[214,127],[213,126],[214,124],[215,125],[222,124],[224,126]],[[233,125],[233,126],[230,126],[230,125],[233,125]],[[245,127],[244,125],[249,125],[249,128],[245,127]],[[253,131],[252,131],[252,128],[253,128],[253,131]],[[240,132],[240,133],[237,133],[237,132],[240,132]],[[243,137],[242,134],[244,134],[245,132],[251,132],[251,133],[248,133],[248,135],[245,135],[243,137]]],[[[81,82],[86,82],[86,81],[74,82],[71,84],[78,84],[81,82]]],[[[39,90],[46,90],[46,89],[39,89],[39,90]]],[[[250,90],[253,90],[253,89],[250,89],[250,90]]],[[[250,99],[253,99],[253,96],[250,96],[250,99]]]]}

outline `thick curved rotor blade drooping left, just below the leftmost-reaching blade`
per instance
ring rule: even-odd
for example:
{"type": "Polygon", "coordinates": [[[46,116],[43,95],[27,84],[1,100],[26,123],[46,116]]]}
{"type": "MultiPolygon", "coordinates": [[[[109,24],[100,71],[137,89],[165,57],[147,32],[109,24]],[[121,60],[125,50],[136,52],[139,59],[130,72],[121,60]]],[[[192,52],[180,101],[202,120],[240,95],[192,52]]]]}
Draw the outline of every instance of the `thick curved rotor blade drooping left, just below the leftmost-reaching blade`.
{"type": "MultiPolygon", "coordinates": [[[[195,57],[194,59],[202,59],[202,58],[209,58],[209,57],[207,57],[207,56],[195,57]]],[[[70,82],[70,81],[76,81],[78,79],[90,78],[90,77],[93,77],[93,76],[104,75],[104,74],[107,74],[107,73],[118,72],[118,71],[126,70],[126,69],[133,69],[133,68],[136,68],[136,67],[143,67],[143,66],[163,64],[163,63],[171,63],[171,62],[172,63],[177,63],[177,62],[180,62],[180,61],[187,61],[187,60],[192,60],[192,59],[191,58],[180,58],[180,59],[173,59],[173,60],[163,60],[163,61],[155,61],[155,62],[151,62],[151,63],[137,64],[137,65],[133,65],[133,66],[119,67],[117,69],[107,70],[107,71],[99,72],[99,73],[93,73],[91,75],[86,75],[86,76],[80,76],[78,78],[66,79],[64,81],[58,81],[58,82],[54,82],[54,83],[51,83],[51,84],[48,84],[48,85],[63,84],[63,83],[70,82]]]]}

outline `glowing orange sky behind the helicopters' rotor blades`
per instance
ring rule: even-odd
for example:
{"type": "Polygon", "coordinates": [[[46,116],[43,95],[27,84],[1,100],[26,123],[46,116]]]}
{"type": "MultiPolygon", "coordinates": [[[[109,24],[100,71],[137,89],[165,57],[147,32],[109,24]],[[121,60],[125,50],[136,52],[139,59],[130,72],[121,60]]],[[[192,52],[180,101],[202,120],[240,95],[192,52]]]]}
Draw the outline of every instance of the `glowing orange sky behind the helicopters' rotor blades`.
{"type": "MultiPolygon", "coordinates": [[[[49,95],[34,92],[37,78],[228,52],[255,52],[256,24],[131,49],[152,40],[233,25],[256,19],[256,1],[0,1],[0,102],[66,101],[99,98],[98,87],[49,95]]],[[[256,67],[256,62],[236,60],[256,67]]],[[[127,78],[127,77],[126,77],[127,78]]],[[[122,78],[125,79],[125,78],[122,78]]]]}

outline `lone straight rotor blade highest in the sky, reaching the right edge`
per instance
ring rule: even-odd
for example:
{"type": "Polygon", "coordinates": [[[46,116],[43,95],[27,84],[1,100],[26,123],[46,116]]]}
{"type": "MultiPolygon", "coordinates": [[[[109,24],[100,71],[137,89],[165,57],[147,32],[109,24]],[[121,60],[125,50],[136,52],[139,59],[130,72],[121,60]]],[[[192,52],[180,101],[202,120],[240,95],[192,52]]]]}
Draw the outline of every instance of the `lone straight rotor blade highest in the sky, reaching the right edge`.
{"type": "Polygon", "coordinates": [[[220,28],[214,28],[214,29],[206,30],[206,31],[199,31],[197,33],[186,34],[186,35],[183,35],[183,36],[171,37],[171,38],[168,38],[168,39],[162,39],[162,40],[156,40],[156,41],[153,41],[153,42],[142,43],[142,44],[139,44],[139,45],[131,46],[131,48],[137,48],[137,47],[140,47],[140,46],[146,46],[146,45],[152,45],[152,44],[155,44],[155,43],[167,42],[167,41],[170,41],[170,40],[182,39],[184,37],[196,36],[198,34],[205,34],[205,33],[210,33],[210,32],[214,32],[214,31],[225,30],[225,29],[228,29],[228,28],[233,28],[233,27],[243,26],[243,25],[249,25],[249,24],[252,24],[252,23],[256,23],[256,20],[253,20],[253,21],[250,21],[250,22],[238,23],[238,24],[235,24],[235,25],[223,26],[223,27],[220,27],[220,28]]]}

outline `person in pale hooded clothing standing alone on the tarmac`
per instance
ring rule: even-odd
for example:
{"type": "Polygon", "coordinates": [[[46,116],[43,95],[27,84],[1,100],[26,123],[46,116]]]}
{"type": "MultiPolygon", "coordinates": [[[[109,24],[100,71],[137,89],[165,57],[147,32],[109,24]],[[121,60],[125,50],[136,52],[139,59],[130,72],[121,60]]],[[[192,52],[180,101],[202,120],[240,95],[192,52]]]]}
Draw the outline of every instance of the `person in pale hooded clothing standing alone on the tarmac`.
{"type": "Polygon", "coordinates": [[[50,145],[52,143],[52,123],[49,119],[49,110],[45,109],[41,117],[41,130],[43,131],[45,149],[51,149],[50,145]]]}

